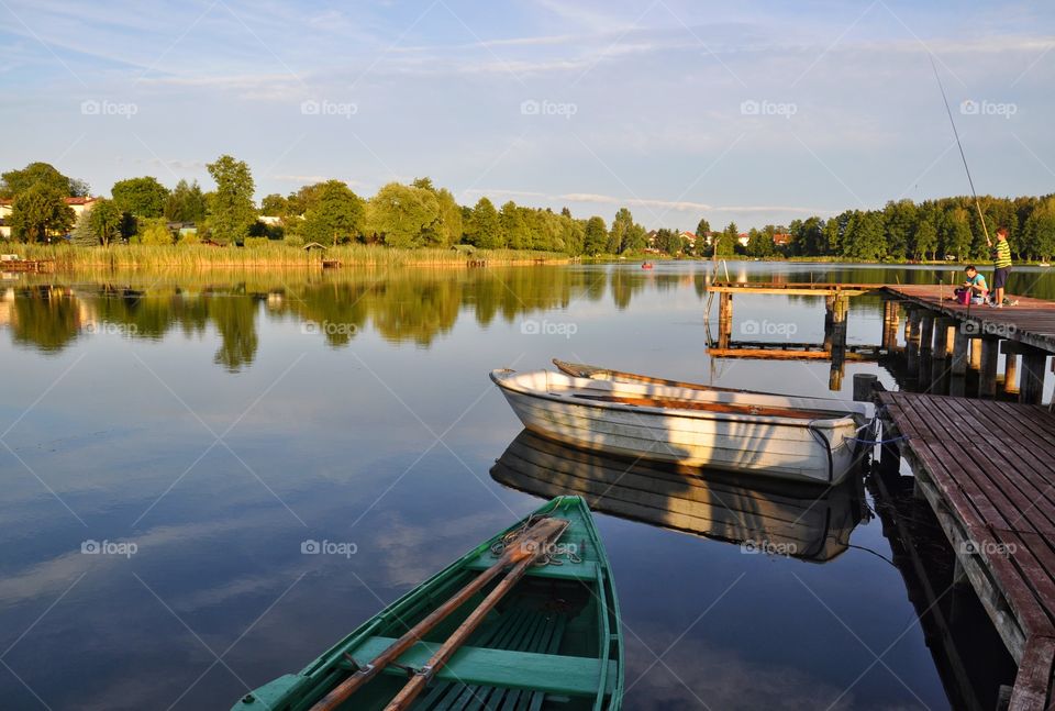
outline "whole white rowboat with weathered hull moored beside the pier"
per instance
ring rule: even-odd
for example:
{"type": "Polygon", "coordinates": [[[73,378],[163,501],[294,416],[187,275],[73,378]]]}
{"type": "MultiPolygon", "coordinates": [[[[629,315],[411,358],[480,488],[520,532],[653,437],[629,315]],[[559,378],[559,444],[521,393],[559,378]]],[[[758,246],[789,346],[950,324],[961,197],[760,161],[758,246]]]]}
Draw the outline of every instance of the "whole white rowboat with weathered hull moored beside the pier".
{"type": "Polygon", "coordinates": [[[557,442],[817,484],[837,484],[851,470],[869,414],[843,400],[547,370],[492,370],[491,380],[525,427],[557,442]]]}

